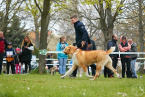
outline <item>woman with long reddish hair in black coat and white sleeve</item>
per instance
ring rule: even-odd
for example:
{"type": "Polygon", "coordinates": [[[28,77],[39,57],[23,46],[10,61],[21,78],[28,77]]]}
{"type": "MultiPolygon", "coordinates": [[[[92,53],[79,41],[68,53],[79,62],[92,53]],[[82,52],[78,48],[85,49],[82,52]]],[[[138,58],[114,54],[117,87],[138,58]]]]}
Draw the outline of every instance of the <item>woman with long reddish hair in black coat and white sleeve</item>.
{"type": "Polygon", "coordinates": [[[31,58],[32,58],[32,50],[34,50],[33,44],[29,36],[25,36],[21,45],[22,49],[22,64],[25,64],[25,73],[27,73],[27,65],[29,65],[29,72],[31,71],[31,58]]]}

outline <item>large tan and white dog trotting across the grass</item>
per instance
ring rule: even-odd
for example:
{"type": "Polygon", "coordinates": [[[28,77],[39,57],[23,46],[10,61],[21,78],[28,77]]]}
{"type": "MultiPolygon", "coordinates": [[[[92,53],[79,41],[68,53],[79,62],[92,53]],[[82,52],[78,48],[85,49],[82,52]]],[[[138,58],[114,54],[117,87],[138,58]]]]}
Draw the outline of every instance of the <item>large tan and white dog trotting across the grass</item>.
{"type": "Polygon", "coordinates": [[[93,63],[97,63],[96,66],[96,75],[93,79],[95,80],[99,76],[100,69],[103,66],[106,66],[110,70],[117,75],[118,78],[121,78],[117,71],[112,67],[112,60],[109,57],[109,54],[115,50],[115,47],[111,47],[108,51],[103,50],[93,50],[93,51],[82,51],[81,49],[77,49],[74,46],[68,46],[64,49],[64,53],[66,55],[70,55],[73,59],[73,66],[70,68],[64,76],[61,78],[65,78],[70,73],[72,73],[76,68],[82,67],[87,77],[92,77],[88,75],[87,66],[93,63]]]}

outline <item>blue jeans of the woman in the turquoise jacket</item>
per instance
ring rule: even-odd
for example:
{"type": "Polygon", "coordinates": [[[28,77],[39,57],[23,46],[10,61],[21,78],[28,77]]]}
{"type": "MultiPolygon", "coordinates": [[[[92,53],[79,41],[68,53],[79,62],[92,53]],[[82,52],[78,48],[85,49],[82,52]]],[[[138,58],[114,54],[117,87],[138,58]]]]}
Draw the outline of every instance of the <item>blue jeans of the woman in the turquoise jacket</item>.
{"type": "Polygon", "coordinates": [[[59,73],[65,74],[67,58],[58,58],[58,61],[59,61],[59,73]]]}

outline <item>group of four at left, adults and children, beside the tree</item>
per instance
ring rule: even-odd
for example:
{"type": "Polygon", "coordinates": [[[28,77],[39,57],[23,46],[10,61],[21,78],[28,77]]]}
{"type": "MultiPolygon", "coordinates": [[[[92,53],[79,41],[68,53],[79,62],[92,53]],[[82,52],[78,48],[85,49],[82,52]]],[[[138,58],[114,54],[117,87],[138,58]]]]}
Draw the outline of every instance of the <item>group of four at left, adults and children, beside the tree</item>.
{"type": "Polygon", "coordinates": [[[21,66],[23,64],[25,64],[25,73],[27,73],[27,65],[30,72],[32,50],[34,50],[34,47],[29,36],[24,37],[21,49],[17,47],[14,50],[12,43],[7,42],[3,36],[3,32],[0,31],[0,74],[2,73],[3,58],[6,58],[7,74],[9,74],[10,66],[12,74],[21,74],[21,66]]]}

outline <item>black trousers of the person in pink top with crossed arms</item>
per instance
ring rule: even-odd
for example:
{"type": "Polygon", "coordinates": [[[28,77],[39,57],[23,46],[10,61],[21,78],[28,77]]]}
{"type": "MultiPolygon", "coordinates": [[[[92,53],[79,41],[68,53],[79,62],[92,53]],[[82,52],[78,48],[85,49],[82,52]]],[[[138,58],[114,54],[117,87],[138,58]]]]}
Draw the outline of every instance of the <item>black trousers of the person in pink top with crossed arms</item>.
{"type": "Polygon", "coordinates": [[[130,58],[121,58],[121,63],[122,63],[122,78],[125,78],[125,63],[127,65],[127,78],[130,78],[131,76],[131,71],[130,71],[130,65],[131,65],[131,59],[130,58]]]}

